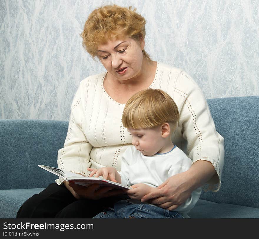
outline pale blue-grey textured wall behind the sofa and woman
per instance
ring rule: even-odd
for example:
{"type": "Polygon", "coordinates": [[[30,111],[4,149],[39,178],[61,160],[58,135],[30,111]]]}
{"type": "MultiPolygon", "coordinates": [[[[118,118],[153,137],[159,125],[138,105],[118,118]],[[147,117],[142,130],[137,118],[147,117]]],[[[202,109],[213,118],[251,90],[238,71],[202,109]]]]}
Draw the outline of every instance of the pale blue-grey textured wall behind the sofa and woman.
{"type": "MultiPolygon", "coordinates": [[[[0,118],[68,120],[87,77],[104,71],[79,36],[113,1],[0,1],[0,118]]],[[[147,20],[153,60],[183,68],[206,98],[259,95],[259,1],[121,1],[147,20]]]]}

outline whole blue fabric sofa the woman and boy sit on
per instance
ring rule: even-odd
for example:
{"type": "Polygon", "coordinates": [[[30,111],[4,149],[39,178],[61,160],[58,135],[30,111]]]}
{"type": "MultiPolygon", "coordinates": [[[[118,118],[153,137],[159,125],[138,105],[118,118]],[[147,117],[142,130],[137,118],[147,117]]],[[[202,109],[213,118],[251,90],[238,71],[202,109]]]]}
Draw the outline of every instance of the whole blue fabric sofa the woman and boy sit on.
{"type": "MultiPolygon", "coordinates": [[[[225,138],[222,186],[202,192],[191,218],[259,218],[259,96],[207,100],[225,138]]],[[[0,218],[15,218],[24,201],[54,182],[38,164],[57,167],[67,121],[0,120],[0,218]]]]}

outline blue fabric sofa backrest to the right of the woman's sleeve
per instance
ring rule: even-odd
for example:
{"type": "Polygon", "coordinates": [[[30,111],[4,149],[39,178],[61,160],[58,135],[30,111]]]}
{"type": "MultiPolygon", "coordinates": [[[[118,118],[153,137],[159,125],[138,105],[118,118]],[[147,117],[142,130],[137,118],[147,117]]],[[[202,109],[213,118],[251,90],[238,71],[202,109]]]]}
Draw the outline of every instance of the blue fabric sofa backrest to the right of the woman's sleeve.
{"type": "Polygon", "coordinates": [[[259,96],[207,100],[224,137],[225,161],[218,192],[201,199],[259,208],[259,96]]]}

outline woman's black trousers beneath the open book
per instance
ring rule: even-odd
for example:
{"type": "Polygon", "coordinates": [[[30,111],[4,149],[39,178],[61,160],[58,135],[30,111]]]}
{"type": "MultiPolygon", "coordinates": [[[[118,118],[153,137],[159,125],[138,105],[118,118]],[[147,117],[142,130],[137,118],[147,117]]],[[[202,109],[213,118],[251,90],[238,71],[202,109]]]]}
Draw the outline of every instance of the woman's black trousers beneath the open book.
{"type": "Polygon", "coordinates": [[[52,183],[24,202],[16,218],[92,218],[105,207],[113,207],[114,202],[126,198],[127,195],[120,195],[100,200],[77,200],[64,184],[52,183]]]}

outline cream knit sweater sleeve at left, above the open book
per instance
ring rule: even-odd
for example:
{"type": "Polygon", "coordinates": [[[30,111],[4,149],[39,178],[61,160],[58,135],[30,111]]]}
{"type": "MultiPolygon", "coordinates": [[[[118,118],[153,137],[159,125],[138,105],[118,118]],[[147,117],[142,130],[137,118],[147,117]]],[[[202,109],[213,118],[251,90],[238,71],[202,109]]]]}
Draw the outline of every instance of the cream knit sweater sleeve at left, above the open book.
{"type": "MultiPolygon", "coordinates": [[[[88,175],[87,168],[91,165],[89,160],[92,145],[83,132],[83,125],[84,110],[79,87],[72,102],[64,147],[58,151],[57,164],[60,169],[88,175]]],[[[56,180],[57,184],[62,184],[63,181],[61,178],[56,180]]]]}

